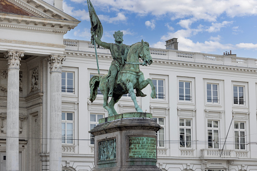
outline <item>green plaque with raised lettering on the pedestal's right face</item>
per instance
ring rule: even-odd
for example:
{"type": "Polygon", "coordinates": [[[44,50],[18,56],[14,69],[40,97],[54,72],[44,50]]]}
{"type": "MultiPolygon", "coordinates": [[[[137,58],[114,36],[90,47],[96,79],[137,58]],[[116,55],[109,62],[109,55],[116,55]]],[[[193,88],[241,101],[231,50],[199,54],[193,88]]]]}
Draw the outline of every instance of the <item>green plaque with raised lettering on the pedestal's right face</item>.
{"type": "Polygon", "coordinates": [[[156,159],[156,138],[129,137],[129,158],[156,159]]]}

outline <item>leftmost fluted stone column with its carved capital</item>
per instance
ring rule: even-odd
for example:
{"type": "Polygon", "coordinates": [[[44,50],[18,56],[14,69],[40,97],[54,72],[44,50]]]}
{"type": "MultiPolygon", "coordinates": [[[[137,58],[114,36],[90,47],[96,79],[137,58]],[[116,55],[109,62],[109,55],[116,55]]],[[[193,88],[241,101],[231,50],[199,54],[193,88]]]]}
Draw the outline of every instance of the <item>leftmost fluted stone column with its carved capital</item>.
{"type": "Polygon", "coordinates": [[[8,50],[6,170],[19,170],[19,71],[23,51],[8,50]]]}

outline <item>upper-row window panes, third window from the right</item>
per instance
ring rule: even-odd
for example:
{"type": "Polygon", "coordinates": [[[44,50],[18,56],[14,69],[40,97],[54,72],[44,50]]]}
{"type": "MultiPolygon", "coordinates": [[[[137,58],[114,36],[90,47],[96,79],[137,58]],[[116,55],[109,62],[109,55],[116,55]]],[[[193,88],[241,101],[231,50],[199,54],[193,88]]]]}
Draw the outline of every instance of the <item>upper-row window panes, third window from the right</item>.
{"type": "Polygon", "coordinates": [[[191,101],[190,82],[179,81],[179,100],[191,101]]]}

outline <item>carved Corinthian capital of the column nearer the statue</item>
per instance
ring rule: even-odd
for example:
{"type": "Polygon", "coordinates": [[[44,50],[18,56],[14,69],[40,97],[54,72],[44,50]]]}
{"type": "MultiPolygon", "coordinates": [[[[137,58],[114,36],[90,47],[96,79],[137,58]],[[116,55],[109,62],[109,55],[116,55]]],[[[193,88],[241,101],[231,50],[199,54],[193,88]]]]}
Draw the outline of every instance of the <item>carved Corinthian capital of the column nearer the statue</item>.
{"type": "Polygon", "coordinates": [[[50,64],[50,72],[62,72],[62,64],[65,61],[66,55],[51,54],[48,58],[50,64]]]}

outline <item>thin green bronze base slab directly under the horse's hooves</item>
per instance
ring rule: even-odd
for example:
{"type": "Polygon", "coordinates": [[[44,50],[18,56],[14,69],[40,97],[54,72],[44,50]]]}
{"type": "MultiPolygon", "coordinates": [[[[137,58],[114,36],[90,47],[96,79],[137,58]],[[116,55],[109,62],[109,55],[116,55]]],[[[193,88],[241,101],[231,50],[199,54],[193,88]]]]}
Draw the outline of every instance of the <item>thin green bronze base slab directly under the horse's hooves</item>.
{"type": "Polygon", "coordinates": [[[152,114],[146,113],[146,112],[121,113],[119,115],[114,115],[111,117],[99,119],[99,124],[102,124],[105,122],[110,122],[110,121],[115,121],[115,120],[119,120],[119,119],[123,119],[123,118],[150,118],[150,119],[152,119],[152,114]]]}

